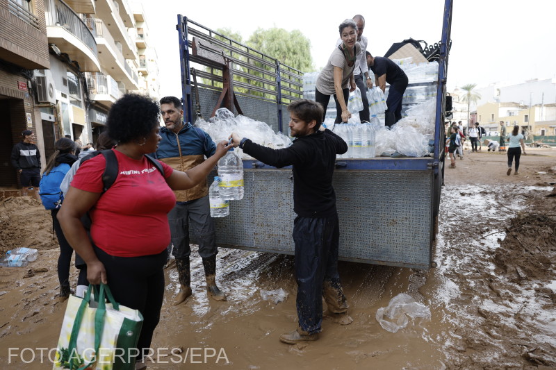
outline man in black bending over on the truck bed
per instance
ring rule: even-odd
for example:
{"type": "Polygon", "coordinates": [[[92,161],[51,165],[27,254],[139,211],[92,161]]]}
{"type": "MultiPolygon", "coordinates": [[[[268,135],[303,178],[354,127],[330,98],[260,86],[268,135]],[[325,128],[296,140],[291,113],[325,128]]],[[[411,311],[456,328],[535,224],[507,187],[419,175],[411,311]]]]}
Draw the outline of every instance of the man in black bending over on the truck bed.
{"type": "Polygon", "coordinates": [[[402,119],[402,99],[409,81],[400,66],[389,58],[373,57],[368,51],[366,56],[369,69],[375,74],[375,84],[382,92],[386,90],[386,83],[390,84],[388,99],[386,99],[388,109],[384,112],[384,117],[386,126],[391,127],[402,119]]]}

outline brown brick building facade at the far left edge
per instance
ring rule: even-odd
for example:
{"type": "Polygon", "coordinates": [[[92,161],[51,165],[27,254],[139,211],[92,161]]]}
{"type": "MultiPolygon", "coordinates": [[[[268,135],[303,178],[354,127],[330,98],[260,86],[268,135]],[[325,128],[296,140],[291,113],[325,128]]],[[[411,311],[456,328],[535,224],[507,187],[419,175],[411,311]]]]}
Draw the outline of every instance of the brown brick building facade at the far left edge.
{"type": "MultiPolygon", "coordinates": [[[[0,187],[19,179],[11,150],[26,129],[41,134],[33,69],[50,67],[42,0],[0,0],[0,187]]],[[[44,158],[44,146],[38,143],[44,158]]]]}

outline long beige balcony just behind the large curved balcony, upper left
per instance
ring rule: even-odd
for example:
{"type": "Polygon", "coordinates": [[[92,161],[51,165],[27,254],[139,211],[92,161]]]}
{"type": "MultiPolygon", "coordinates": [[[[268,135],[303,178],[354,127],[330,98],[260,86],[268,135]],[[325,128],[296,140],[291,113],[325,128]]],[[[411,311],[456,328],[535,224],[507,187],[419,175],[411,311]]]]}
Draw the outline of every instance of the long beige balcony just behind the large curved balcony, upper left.
{"type": "Polygon", "coordinates": [[[122,81],[130,90],[136,90],[138,78],[122,54],[121,43],[114,40],[102,19],[88,18],[87,22],[95,24],[95,40],[99,48],[102,69],[109,71],[117,81],[122,81]]]}

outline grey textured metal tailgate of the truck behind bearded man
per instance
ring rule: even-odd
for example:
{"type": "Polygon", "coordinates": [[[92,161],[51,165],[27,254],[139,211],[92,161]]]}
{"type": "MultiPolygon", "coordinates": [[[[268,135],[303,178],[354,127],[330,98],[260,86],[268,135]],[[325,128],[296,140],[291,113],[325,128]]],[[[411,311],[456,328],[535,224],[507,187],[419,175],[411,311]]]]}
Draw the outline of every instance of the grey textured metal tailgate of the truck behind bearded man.
{"type": "MultiPolygon", "coordinates": [[[[293,254],[293,183],[286,169],[245,169],[245,196],[216,219],[220,246],[293,254]]],[[[428,268],[432,171],[336,171],[340,259],[428,268]]]]}

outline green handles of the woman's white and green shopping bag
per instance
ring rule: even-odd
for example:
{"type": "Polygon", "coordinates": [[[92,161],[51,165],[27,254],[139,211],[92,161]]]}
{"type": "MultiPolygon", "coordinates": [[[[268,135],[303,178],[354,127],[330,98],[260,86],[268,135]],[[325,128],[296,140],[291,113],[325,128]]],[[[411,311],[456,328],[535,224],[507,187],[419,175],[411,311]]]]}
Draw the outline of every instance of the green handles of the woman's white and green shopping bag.
{"type": "MultiPolygon", "coordinates": [[[[77,310],[74,326],[72,327],[72,334],[70,335],[70,343],[68,344],[68,351],[70,351],[70,355],[76,353],[76,346],[77,346],[77,335],[79,335],[79,330],[81,328],[81,323],[83,322],[83,314],[85,313],[85,308],[87,305],[90,304],[91,301],[91,292],[93,289],[93,285],[89,285],[83,300],[81,301],[81,305],[79,305],[79,309],[77,310]]],[[[106,315],[106,298],[108,301],[112,303],[112,306],[115,310],[120,310],[120,304],[114,300],[112,292],[108,285],[101,283],[100,284],[100,292],[98,292],[98,288],[95,285],[95,297],[93,298],[94,301],[98,302],[97,312],[95,313],[95,361],[97,360],[97,356],[99,354],[100,348],[100,340],[102,337],[102,331],[104,330],[104,316],[106,315]]],[[[80,367],[77,367],[78,364],[74,362],[70,362],[70,369],[74,370],[82,370],[89,367],[93,362],[89,364],[82,364],[80,367]],[[74,367],[75,366],[75,367],[74,367]]]]}

